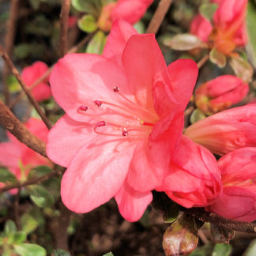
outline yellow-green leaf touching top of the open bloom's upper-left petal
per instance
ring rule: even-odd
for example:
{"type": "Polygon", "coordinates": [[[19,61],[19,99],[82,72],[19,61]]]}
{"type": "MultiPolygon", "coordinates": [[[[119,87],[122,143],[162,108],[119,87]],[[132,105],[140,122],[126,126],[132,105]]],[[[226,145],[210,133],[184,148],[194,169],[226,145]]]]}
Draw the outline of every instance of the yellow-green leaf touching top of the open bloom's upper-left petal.
{"type": "Polygon", "coordinates": [[[95,36],[88,43],[86,47],[86,53],[101,55],[104,51],[104,46],[106,44],[107,38],[104,32],[96,32],[95,36]]]}

